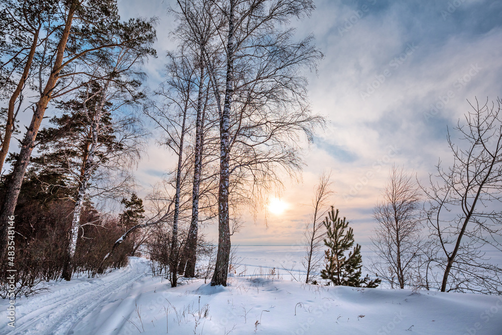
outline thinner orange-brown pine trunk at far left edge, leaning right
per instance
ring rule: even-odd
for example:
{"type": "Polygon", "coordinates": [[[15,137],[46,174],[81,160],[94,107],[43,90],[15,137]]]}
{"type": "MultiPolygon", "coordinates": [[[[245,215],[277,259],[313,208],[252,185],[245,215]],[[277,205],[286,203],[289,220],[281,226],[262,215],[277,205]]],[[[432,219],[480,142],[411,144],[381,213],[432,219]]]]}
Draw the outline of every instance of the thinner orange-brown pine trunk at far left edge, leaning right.
{"type": "Polygon", "coordinates": [[[40,27],[33,36],[33,43],[31,45],[30,53],[28,54],[28,58],[26,60],[23,74],[21,75],[18,85],[14,90],[14,92],[12,93],[12,96],[9,100],[4,141],[2,142],[2,149],[0,149],[0,172],[2,172],[2,169],[4,168],[5,159],[7,157],[7,154],[9,153],[9,145],[11,144],[12,133],[14,131],[14,109],[16,106],[16,100],[18,99],[19,95],[21,94],[21,91],[23,90],[23,87],[25,86],[26,79],[28,79],[28,75],[30,73],[31,65],[33,62],[33,57],[35,56],[35,51],[37,50],[39,32],[40,32],[40,27]]]}

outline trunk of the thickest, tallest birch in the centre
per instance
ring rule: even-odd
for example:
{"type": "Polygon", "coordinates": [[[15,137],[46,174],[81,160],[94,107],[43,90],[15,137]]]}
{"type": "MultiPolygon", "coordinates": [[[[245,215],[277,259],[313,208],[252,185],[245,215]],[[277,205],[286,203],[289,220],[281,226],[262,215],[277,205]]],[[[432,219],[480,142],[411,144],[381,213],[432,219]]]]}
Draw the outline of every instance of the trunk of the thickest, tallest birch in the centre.
{"type": "Polygon", "coordinates": [[[228,45],[225,104],[220,117],[220,181],[218,192],[218,252],[211,285],[226,286],[228,262],[230,259],[230,226],[228,212],[228,189],[230,182],[230,108],[233,94],[233,39],[235,1],[230,0],[230,15],[228,17],[228,45]]]}

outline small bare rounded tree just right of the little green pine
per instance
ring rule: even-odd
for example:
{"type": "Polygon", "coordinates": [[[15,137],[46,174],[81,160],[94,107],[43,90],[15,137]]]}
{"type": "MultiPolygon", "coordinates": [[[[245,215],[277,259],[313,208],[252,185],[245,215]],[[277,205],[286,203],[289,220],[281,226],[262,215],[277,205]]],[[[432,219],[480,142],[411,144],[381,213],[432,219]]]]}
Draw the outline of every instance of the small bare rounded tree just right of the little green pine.
{"type": "Polygon", "coordinates": [[[414,284],[412,276],[423,247],[421,205],[420,188],[412,176],[393,165],[382,198],[373,208],[376,228],[370,249],[377,258],[369,266],[391,288],[414,284]]]}

